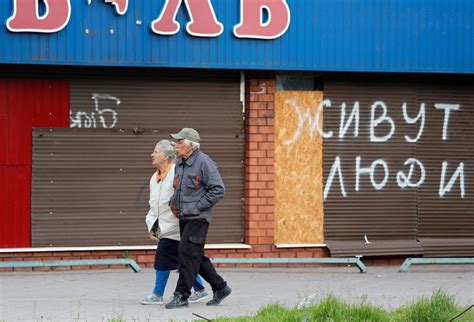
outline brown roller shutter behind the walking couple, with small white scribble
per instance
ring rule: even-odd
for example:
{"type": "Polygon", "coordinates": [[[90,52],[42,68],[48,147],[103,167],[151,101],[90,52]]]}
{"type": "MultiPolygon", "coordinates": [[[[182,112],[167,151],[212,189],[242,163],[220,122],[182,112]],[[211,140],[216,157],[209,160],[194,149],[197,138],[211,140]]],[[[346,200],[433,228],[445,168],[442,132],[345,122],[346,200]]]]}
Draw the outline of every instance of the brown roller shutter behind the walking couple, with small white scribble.
{"type": "Polygon", "coordinates": [[[150,243],[144,223],[150,153],[182,127],[200,132],[201,148],[226,185],[207,242],[243,241],[239,75],[72,80],[71,125],[33,133],[33,246],[150,243]]]}

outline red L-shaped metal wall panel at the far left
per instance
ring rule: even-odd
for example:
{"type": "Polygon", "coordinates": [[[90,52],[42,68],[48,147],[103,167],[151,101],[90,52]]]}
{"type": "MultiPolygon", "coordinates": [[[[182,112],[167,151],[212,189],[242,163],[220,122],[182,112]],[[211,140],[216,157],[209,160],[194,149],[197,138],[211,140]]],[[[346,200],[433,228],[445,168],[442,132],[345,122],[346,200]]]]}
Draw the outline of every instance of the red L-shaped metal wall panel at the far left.
{"type": "Polygon", "coordinates": [[[0,80],[0,247],[31,246],[31,130],[69,127],[69,82],[0,80]]]}

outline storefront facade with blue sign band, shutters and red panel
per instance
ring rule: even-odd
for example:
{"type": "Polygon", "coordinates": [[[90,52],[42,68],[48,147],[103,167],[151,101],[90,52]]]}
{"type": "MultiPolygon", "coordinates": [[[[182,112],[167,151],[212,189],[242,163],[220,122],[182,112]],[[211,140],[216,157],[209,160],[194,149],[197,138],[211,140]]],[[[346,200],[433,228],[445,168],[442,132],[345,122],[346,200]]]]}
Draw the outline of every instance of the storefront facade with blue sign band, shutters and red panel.
{"type": "Polygon", "coordinates": [[[0,258],[131,256],[156,141],[194,127],[211,257],[474,254],[474,5],[0,4],[0,258]]]}

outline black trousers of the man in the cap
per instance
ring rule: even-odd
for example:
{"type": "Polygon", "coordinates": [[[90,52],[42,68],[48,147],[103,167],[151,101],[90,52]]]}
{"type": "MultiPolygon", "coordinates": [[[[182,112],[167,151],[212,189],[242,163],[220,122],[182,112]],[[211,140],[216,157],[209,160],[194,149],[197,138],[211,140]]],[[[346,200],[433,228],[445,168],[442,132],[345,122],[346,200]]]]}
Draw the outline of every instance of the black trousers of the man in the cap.
{"type": "Polygon", "coordinates": [[[204,256],[209,223],[205,219],[180,220],[181,240],[179,242],[179,278],[176,292],[183,298],[191,295],[191,287],[197,274],[208,282],[212,290],[219,291],[227,284],[217,274],[208,257],[204,256]]]}

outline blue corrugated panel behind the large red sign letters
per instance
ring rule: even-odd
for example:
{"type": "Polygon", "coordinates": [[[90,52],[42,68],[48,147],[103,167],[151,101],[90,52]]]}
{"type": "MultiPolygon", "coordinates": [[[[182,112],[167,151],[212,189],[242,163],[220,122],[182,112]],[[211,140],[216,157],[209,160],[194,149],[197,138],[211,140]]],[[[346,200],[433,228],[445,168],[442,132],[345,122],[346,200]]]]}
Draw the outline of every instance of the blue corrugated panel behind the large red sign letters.
{"type": "Polygon", "coordinates": [[[0,63],[229,69],[474,73],[472,0],[287,0],[291,24],[274,40],[240,39],[240,0],[212,0],[224,32],[152,33],[164,0],[130,0],[124,16],[104,0],[74,0],[66,28],[11,33],[0,1],[0,63]]]}

